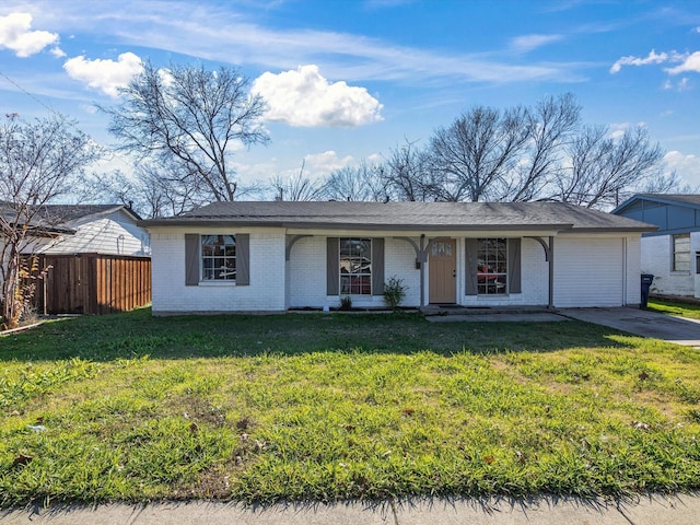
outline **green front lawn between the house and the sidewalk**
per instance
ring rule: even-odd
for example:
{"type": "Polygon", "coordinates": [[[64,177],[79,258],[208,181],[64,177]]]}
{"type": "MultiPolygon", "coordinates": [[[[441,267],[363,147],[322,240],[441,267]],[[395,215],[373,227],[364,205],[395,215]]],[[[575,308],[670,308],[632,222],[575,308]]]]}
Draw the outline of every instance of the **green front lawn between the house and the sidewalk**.
{"type": "Polygon", "coordinates": [[[697,490],[699,372],[573,320],[51,322],[0,337],[0,505],[697,490]]]}

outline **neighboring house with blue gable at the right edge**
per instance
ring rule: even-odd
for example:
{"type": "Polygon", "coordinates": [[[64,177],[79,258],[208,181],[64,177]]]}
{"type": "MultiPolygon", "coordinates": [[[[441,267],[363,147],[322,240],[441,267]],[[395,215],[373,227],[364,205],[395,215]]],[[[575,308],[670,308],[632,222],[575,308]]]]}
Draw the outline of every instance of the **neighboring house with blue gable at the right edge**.
{"type": "Polygon", "coordinates": [[[640,194],[612,213],[655,224],[642,235],[642,271],[651,293],[700,298],[700,195],[640,194]]]}

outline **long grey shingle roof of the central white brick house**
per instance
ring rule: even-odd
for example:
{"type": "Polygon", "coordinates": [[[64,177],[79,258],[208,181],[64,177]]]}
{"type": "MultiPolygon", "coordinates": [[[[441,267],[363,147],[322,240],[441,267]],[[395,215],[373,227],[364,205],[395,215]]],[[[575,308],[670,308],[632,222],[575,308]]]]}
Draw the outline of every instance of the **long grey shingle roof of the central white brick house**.
{"type": "Polygon", "coordinates": [[[656,226],[562,202],[214,202],[149,226],[277,226],[353,230],[648,232],[656,226]]]}

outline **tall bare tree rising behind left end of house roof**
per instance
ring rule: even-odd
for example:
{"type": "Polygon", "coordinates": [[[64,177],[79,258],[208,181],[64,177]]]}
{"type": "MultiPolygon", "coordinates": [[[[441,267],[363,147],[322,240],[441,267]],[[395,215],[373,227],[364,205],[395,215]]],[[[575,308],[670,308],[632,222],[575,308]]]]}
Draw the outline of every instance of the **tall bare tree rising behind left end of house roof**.
{"type": "Polygon", "coordinates": [[[171,65],[159,70],[145,62],[120,95],[121,104],[102,108],[112,117],[108,129],[121,141],[119,150],[164,170],[178,165],[168,183],[184,195],[195,188],[207,200],[234,200],[235,148],[269,140],[260,124],[265,102],[250,94],[249,81],[236,69],[171,65]]]}

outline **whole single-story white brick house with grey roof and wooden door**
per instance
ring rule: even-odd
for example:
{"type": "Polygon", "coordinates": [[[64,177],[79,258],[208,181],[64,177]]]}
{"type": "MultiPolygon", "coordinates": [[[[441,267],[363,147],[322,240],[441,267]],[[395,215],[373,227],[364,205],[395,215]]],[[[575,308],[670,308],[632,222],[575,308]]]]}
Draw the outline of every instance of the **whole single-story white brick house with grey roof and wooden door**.
{"type": "Polygon", "coordinates": [[[555,202],[217,202],[141,221],[154,315],[383,306],[640,304],[655,228],[555,202]]]}

